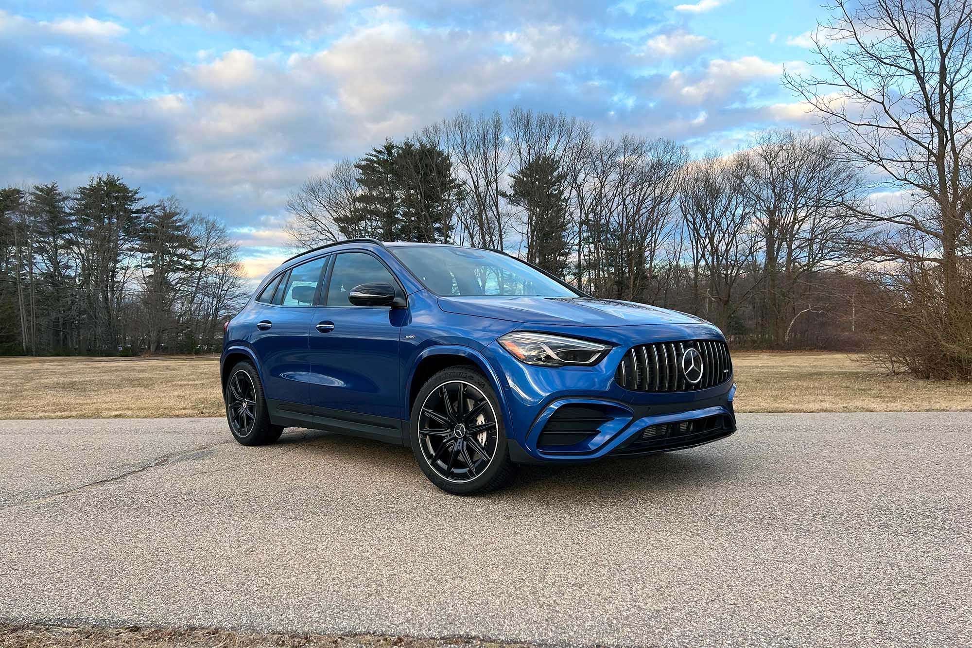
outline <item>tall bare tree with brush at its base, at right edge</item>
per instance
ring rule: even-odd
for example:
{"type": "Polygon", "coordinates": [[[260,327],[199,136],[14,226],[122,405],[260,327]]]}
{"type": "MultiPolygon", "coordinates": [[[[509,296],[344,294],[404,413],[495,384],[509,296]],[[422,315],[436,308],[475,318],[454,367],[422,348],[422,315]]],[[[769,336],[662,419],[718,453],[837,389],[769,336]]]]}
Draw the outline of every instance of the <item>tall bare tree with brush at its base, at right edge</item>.
{"type": "Polygon", "coordinates": [[[818,73],[784,82],[846,160],[897,192],[890,205],[854,212],[876,226],[868,257],[898,268],[901,301],[887,309],[885,332],[925,349],[906,368],[970,378],[972,2],[835,0],[830,9],[815,38],[818,73]]]}

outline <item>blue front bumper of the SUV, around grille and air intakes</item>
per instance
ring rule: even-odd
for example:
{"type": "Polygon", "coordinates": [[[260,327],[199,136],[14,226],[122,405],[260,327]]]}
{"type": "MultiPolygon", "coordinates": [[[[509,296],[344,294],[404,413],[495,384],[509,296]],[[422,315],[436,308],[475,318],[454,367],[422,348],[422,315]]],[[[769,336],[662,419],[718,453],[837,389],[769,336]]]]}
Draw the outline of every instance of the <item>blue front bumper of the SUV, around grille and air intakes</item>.
{"type": "MultiPolygon", "coordinates": [[[[710,325],[624,326],[556,331],[615,344],[596,367],[534,367],[498,343],[488,358],[498,370],[506,404],[510,458],[519,463],[586,463],[608,455],[650,454],[692,448],[736,431],[730,377],[708,389],[646,393],[621,387],[614,371],[628,348],[668,340],[722,340],[710,325]],[[565,418],[574,416],[573,419],[565,418]],[[588,434],[570,431],[588,420],[588,434]],[[578,423],[579,424],[579,423],[578,423]],[[559,427],[558,427],[559,426],[559,427]]],[[[581,425],[583,427],[583,425],[581,425]]]]}

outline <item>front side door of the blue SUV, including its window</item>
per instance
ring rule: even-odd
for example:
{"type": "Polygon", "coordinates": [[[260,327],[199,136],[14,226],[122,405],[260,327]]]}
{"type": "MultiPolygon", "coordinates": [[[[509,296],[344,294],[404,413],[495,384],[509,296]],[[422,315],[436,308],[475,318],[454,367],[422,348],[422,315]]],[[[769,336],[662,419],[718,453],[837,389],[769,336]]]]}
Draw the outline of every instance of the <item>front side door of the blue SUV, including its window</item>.
{"type": "Polygon", "coordinates": [[[318,424],[399,440],[399,330],[402,309],[354,306],[351,289],[398,279],[377,256],[364,251],[334,256],[324,306],[314,311],[310,333],[311,403],[318,424]]]}

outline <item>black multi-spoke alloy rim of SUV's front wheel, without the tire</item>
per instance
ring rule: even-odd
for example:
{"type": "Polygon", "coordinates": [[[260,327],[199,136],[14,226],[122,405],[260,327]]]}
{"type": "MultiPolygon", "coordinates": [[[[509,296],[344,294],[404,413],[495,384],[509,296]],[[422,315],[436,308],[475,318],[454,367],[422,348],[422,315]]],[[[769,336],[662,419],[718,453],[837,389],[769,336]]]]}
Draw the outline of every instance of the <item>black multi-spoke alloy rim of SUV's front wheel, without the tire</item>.
{"type": "Polygon", "coordinates": [[[449,482],[469,482],[482,475],[496,456],[497,414],[474,384],[449,380],[423,402],[418,437],[436,475],[449,482]]]}

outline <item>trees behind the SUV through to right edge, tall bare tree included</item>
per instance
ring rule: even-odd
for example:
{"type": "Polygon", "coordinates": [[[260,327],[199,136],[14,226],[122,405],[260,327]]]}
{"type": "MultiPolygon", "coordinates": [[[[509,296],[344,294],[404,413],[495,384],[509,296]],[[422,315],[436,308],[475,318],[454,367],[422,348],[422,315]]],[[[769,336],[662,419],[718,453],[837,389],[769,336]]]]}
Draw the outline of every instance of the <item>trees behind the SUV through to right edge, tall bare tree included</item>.
{"type": "Polygon", "coordinates": [[[506,250],[736,345],[868,346],[892,372],[972,378],[972,3],[831,9],[813,73],[782,80],[823,134],[693,157],[562,113],[459,112],[310,178],[289,233],[506,250]]]}

